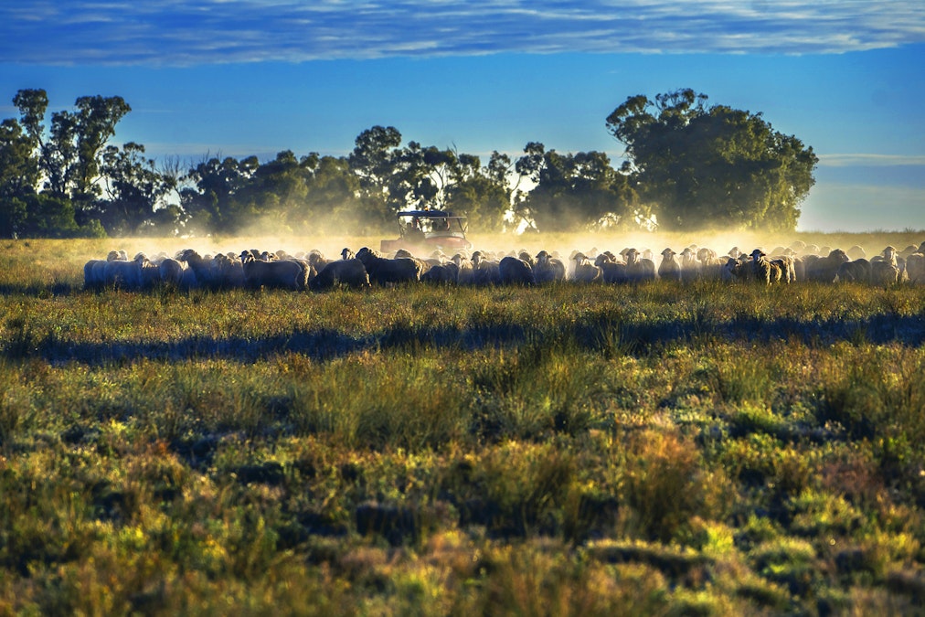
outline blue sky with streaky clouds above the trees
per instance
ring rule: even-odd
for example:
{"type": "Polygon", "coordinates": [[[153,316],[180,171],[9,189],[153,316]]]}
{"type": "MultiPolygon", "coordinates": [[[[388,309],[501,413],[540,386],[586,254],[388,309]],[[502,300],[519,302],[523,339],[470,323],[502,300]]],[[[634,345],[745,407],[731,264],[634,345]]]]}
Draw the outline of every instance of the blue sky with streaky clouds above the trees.
{"type": "Polygon", "coordinates": [[[925,229],[921,0],[32,0],[0,5],[0,118],[121,96],[155,158],[348,154],[376,125],[487,162],[623,145],[628,97],[692,88],[820,157],[802,231],[925,229]]]}

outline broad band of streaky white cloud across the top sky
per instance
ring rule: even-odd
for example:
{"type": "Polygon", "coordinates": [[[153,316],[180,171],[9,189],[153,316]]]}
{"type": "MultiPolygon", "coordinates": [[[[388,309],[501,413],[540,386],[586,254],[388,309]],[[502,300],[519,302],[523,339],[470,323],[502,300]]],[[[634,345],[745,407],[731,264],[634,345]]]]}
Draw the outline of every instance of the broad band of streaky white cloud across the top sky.
{"type": "Polygon", "coordinates": [[[0,62],[189,65],[497,52],[840,53],[925,42],[920,0],[37,0],[0,62]]]}

